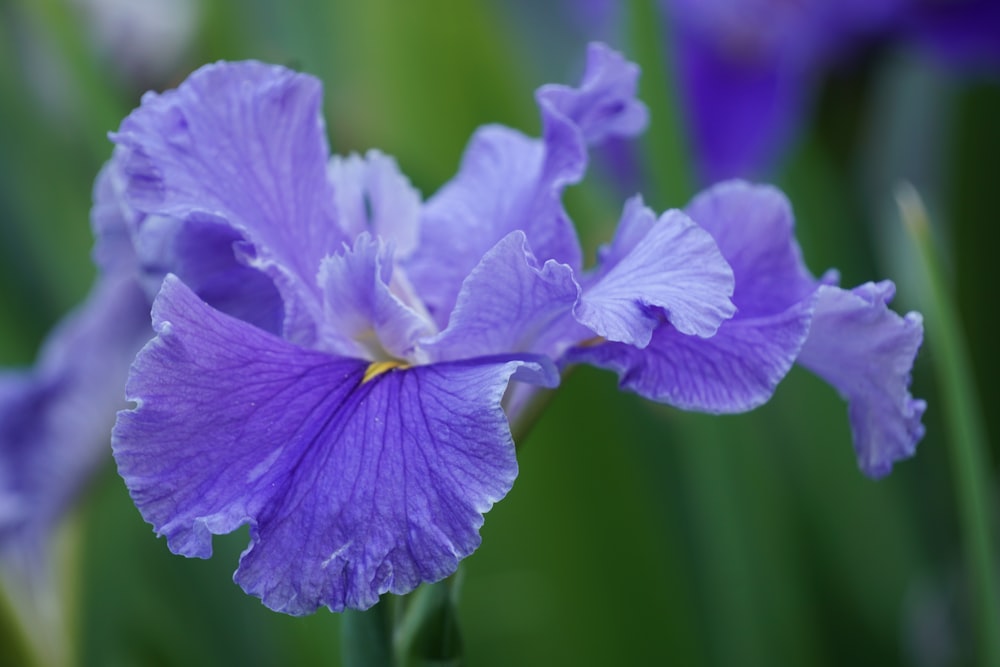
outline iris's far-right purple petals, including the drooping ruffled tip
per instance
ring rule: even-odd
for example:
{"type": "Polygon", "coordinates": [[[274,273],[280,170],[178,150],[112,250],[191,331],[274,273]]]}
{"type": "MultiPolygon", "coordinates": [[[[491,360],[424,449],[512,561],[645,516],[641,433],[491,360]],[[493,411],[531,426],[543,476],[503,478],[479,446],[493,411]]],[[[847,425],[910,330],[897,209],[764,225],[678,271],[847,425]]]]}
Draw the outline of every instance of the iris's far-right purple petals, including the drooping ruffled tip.
{"type": "Polygon", "coordinates": [[[583,346],[566,360],[611,369],[623,388],[646,398],[710,413],[761,405],[798,362],[847,400],[865,474],[884,476],[895,461],[912,456],[924,434],[926,403],[909,393],[923,326],[918,313],[900,317],[888,309],[893,284],[845,290],[835,272],[813,278],[794,238],[791,205],[773,187],[723,182],[685,212],[732,266],[736,315],[709,338],[685,336],[664,323],[648,345],[583,346]]]}

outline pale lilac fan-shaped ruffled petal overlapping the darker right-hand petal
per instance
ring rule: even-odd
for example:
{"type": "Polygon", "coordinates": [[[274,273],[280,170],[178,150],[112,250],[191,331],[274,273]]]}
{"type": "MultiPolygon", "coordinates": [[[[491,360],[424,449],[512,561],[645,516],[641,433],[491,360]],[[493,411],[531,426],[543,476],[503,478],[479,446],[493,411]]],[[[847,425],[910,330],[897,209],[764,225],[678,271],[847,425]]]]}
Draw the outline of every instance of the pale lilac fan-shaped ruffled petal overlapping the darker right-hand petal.
{"type": "Polygon", "coordinates": [[[634,197],[575,314],[599,336],[641,348],[664,317],[683,334],[712,336],[736,312],[732,294],[732,269],[705,230],[676,210],[657,220],[634,197]]]}

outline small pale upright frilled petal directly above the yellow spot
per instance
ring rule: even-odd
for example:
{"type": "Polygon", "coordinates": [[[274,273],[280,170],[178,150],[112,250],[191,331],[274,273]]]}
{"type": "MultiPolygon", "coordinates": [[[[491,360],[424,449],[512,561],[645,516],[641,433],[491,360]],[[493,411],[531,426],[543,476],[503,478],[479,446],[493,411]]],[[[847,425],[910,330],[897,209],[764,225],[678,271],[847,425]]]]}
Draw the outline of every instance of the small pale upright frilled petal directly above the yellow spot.
{"type": "Polygon", "coordinates": [[[410,359],[434,325],[394,294],[392,256],[381,239],[362,232],[353,248],[323,260],[319,284],[323,350],[360,359],[410,359]]]}

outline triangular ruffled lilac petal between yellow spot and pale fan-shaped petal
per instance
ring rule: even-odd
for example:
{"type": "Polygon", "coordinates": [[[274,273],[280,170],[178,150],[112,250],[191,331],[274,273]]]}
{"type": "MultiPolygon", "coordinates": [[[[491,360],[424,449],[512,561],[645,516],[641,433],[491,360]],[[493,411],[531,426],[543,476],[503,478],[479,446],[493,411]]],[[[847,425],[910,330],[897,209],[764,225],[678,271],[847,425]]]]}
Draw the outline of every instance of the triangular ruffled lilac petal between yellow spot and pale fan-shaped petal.
{"type": "Polygon", "coordinates": [[[431,359],[538,353],[557,357],[587,337],[571,317],[580,288],[573,271],[554,260],[538,266],[524,232],[491,248],[462,285],[448,327],[425,344],[431,359]]]}

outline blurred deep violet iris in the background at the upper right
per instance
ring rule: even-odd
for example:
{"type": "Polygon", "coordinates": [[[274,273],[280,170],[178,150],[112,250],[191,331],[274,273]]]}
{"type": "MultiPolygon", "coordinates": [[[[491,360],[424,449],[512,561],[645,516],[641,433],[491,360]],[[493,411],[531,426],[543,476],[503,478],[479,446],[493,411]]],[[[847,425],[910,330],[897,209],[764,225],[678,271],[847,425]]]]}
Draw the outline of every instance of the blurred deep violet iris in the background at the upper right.
{"type": "Polygon", "coordinates": [[[994,0],[661,0],[681,103],[715,182],[773,168],[823,73],[875,41],[915,44],[963,69],[1000,67],[994,0]]]}

